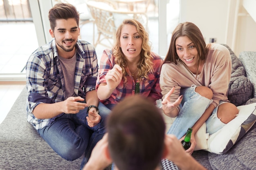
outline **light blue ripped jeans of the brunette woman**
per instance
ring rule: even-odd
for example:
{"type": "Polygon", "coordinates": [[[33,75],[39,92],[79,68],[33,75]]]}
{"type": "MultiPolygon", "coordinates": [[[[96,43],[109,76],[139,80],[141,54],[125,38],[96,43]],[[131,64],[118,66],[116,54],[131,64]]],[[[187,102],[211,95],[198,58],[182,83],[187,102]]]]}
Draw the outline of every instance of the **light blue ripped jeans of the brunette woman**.
{"type": "MultiPolygon", "coordinates": [[[[182,102],[180,103],[180,113],[167,134],[173,134],[178,139],[182,138],[188,128],[193,127],[195,122],[198,121],[204,111],[212,103],[212,100],[195,92],[195,87],[195,85],[192,85],[191,87],[180,90],[180,95],[183,95],[182,102]]],[[[222,103],[225,102],[220,101],[219,105],[222,103]]],[[[211,116],[206,121],[206,131],[209,135],[215,133],[225,125],[225,123],[221,122],[217,117],[218,106],[213,110],[211,116]]]]}

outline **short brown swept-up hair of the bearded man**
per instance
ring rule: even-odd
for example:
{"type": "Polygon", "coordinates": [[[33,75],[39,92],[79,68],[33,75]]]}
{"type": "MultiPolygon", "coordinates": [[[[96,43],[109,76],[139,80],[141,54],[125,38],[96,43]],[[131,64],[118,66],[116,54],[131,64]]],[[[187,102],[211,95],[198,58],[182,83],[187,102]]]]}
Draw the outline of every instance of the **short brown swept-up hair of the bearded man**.
{"type": "Polygon", "coordinates": [[[54,31],[54,28],[56,26],[56,20],[59,19],[69,19],[74,18],[76,19],[76,24],[79,26],[79,13],[76,10],[76,7],[72,4],[66,4],[66,3],[58,3],[55,4],[52,9],[49,10],[49,22],[51,29],[54,31]]]}

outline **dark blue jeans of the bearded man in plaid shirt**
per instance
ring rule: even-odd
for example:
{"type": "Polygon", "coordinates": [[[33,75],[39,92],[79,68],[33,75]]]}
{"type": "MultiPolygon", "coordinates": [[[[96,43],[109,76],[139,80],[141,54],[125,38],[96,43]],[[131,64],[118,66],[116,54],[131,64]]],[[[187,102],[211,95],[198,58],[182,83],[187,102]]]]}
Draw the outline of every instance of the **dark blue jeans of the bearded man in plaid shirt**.
{"type": "Polygon", "coordinates": [[[76,114],[63,114],[52,124],[39,129],[38,133],[58,153],[68,161],[91,154],[92,148],[106,133],[105,120],[110,110],[99,102],[101,121],[94,127],[88,126],[87,107],[76,114]]]}

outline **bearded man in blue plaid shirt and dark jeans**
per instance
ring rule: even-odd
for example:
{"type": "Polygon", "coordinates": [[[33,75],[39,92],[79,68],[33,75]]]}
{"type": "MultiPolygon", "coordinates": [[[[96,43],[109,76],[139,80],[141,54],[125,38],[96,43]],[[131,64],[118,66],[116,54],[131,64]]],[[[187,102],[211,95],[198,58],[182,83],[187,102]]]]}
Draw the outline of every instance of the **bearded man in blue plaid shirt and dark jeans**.
{"type": "Polygon", "coordinates": [[[58,155],[73,161],[85,149],[90,156],[106,132],[110,110],[97,97],[97,56],[90,43],[78,39],[76,8],[54,5],[49,22],[52,41],[34,51],[26,65],[27,121],[58,155]]]}

